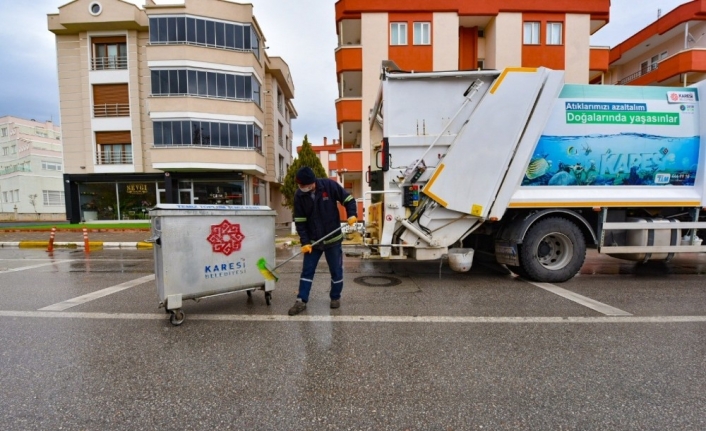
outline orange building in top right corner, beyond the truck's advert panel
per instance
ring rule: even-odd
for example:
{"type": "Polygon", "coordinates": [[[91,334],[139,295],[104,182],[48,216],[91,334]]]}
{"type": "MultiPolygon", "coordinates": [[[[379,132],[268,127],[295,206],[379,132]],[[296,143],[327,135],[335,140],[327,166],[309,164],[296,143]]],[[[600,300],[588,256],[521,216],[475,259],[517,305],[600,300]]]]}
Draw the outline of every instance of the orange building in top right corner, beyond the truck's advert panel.
{"type": "Polygon", "coordinates": [[[680,87],[705,77],[706,3],[694,0],[659,16],[612,48],[603,80],[616,85],[680,87]]]}

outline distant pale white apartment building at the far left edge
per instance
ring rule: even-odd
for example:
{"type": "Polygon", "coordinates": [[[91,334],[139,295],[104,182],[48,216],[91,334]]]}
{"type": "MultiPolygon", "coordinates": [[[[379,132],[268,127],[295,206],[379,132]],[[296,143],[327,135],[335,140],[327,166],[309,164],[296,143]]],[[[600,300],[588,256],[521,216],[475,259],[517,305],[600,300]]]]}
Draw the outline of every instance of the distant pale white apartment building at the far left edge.
{"type": "Polygon", "coordinates": [[[61,129],[0,117],[0,220],[64,220],[61,129]]]}

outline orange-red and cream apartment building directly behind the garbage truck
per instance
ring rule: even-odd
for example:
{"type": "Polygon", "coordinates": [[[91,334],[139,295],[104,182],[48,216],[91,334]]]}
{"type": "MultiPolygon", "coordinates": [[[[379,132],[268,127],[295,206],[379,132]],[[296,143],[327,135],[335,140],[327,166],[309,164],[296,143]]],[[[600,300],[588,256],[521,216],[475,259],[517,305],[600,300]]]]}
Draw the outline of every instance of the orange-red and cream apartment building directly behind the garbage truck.
{"type": "Polygon", "coordinates": [[[588,83],[608,70],[608,49],[589,38],[609,9],[609,0],[338,0],[342,181],[356,196],[370,188],[362,171],[376,163],[368,115],[383,61],[417,72],[546,66],[564,70],[568,83],[588,83]]]}

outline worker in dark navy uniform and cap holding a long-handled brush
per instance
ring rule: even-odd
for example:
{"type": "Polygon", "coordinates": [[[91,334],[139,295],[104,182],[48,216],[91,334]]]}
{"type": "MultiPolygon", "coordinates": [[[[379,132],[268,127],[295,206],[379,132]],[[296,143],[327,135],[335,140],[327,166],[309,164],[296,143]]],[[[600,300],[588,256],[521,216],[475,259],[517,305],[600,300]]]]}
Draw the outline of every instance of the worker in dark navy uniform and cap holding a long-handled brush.
{"type": "Polygon", "coordinates": [[[297,171],[296,181],[299,190],[294,193],[294,224],[301,240],[304,263],[299,279],[299,293],[296,302],[289,309],[290,316],[306,310],[314,273],[322,254],[326,256],[326,263],[331,272],[331,308],[341,306],[343,232],[336,203],[340,202],[345,206],[349,226],[358,221],[355,199],[337,182],[328,178],[317,179],[314,171],[307,166],[297,171]],[[333,234],[316,245],[313,244],[329,233],[333,234]]]}

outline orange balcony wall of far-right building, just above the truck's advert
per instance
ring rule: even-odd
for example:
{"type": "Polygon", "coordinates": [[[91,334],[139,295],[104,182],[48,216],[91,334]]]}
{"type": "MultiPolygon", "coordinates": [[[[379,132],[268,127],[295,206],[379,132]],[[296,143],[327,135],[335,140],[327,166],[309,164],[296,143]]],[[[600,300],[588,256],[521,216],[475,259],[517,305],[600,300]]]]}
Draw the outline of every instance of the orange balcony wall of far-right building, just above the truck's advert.
{"type": "Polygon", "coordinates": [[[617,82],[617,85],[650,85],[664,83],[682,73],[706,73],[706,50],[690,49],[659,63],[641,68],[617,82]]]}

